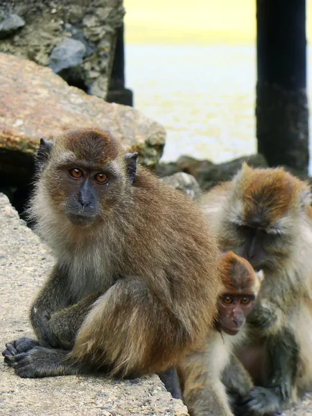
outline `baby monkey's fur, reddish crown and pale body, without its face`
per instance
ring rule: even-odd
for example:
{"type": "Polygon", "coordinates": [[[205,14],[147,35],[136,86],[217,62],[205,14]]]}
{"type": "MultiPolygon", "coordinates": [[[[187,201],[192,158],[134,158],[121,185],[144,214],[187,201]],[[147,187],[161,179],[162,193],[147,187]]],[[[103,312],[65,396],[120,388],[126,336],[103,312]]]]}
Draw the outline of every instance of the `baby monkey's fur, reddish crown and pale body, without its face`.
{"type": "MultiPolygon", "coordinates": [[[[223,255],[222,277],[222,294],[256,296],[259,291],[260,279],[250,263],[233,252],[223,255]]],[[[205,345],[182,362],[179,374],[191,416],[233,416],[227,388],[234,389],[239,397],[250,391],[252,380],[233,355],[236,343],[241,343],[244,337],[245,327],[235,336],[211,329],[205,345]]]]}

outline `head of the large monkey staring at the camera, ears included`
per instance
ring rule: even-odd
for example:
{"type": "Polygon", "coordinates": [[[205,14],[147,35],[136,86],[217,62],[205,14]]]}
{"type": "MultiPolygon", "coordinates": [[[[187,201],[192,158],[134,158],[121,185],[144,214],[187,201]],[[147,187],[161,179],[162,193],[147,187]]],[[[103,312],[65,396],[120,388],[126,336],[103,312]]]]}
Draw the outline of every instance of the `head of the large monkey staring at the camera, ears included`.
{"type": "Polygon", "coordinates": [[[124,154],[107,132],[76,130],[47,145],[42,141],[40,182],[51,205],[78,227],[96,225],[127,200],[137,153],[124,154]],[[49,147],[47,147],[49,146],[49,147]]]}

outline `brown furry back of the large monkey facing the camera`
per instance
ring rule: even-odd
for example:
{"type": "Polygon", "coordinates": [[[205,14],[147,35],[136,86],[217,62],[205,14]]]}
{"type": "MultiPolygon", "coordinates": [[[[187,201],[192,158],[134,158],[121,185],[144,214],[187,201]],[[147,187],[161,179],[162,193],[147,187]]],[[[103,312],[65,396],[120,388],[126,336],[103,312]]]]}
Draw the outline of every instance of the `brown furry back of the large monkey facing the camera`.
{"type": "Polygon", "coordinates": [[[190,331],[203,338],[220,293],[216,236],[194,202],[144,168],[137,172],[133,194],[129,209],[139,216],[130,214],[125,264],[132,265],[133,274],[145,275],[190,331]]]}

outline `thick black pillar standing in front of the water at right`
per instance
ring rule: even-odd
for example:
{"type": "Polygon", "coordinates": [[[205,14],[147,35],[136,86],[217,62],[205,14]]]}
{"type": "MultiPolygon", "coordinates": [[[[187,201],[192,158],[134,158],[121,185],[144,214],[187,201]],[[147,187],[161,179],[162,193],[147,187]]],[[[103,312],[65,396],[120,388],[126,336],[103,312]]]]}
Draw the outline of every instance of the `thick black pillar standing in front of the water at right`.
{"type": "Polygon", "coordinates": [[[307,173],[305,0],[257,0],[258,152],[307,173]]]}

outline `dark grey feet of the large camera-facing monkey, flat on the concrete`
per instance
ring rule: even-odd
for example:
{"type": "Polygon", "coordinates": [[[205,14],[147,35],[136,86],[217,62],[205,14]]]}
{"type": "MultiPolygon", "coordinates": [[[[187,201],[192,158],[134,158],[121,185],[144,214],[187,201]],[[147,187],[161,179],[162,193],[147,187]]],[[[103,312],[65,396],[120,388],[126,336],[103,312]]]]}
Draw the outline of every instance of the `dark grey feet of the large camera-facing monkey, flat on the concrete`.
{"type": "Polygon", "coordinates": [[[68,352],[62,349],[33,347],[28,352],[6,356],[15,373],[22,378],[37,378],[77,374],[78,369],[62,363],[68,352]]]}

